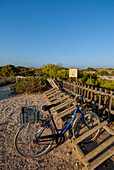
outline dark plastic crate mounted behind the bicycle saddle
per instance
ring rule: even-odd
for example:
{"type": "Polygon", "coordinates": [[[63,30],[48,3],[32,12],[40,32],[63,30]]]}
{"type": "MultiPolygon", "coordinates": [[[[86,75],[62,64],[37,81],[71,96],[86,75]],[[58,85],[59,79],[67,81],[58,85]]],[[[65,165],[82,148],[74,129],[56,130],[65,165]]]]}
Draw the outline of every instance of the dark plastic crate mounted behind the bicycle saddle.
{"type": "Polygon", "coordinates": [[[21,108],[20,123],[30,123],[39,121],[38,106],[26,106],[21,108]]]}

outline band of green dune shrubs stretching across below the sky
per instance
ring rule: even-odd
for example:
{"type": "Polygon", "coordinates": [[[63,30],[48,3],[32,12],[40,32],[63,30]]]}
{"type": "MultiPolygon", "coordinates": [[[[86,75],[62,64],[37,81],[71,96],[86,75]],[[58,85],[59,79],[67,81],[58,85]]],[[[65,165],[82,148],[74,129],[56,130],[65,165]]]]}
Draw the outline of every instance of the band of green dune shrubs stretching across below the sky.
{"type": "MultiPolygon", "coordinates": [[[[78,72],[78,83],[80,84],[88,84],[95,87],[101,87],[108,90],[114,90],[114,81],[111,80],[103,80],[100,76],[106,75],[106,76],[112,76],[114,75],[114,70],[110,70],[110,74],[106,70],[98,71],[98,69],[94,69],[91,67],[88,67],[85,70],[79,70],[78,72]],[[90,71],[87,73],[86,71],[90,71]],[[94,74],[91,73],[91,71],[94,71],[94,74]]],[[[48,64],[44,65],[42,68],[39,69],[33,69],[33,68],[26,68],[22,66],[15,67],[13,65],[6,65],[0,67],[0,76],[3,76],[4,78],[1,78],[0,81],[2,81],[1,84],[3,84],[6,81],[6,79],[9,79],[8,77],[15,77],[17,75],[27,77],[26,79],[19,80],[15,86],[12,86],[12,89],[16,92],[37,92],[42,91],[46,87],[46,80],[47,78],[60,78],[63,80],[69,81],[69,69],[61,67],[59,65],[54,64],[48,64]]],[[[9,80],[8,80],[9,81],[9,80]]],[[[6,81],[6,84],[8,83],[6,81]]],[[[75,78],[72,78],[72,81],[75,81],[75,78]]],[[[11,81],[12,82],[12,81],[11,81]]]]}

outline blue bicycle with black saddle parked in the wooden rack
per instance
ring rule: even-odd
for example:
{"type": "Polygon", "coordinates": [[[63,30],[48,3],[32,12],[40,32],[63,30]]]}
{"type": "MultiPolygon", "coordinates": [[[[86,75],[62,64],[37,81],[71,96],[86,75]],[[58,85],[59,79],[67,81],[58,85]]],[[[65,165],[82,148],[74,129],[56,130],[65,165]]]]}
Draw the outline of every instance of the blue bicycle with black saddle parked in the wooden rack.
{"type": "MultiPolygon", "coordinates": [[[[75,102],[77,97],[83,99],[82,95],[73,95],[75,95],[75,102]]],[[[81,113],[76,102],[76,109],[69,123],[64,128],[58,129],[50,111],[55,106],[56,104],[51,104],[42,107],[43,111],[48,111],[49,113],[47,120],[40,119],[36,123],[26,123],[19,128],[14,142],[19,154],[24,157],[36,158],[47,153],[54,142],[59,144],[65,141],[65,132],[70,128],[71,123],[73,124],[72,133],[74,138],[83,134],[83,129],[87,131],[100,123],[100,119],[96,113],[91,111],[86,111],[85,114],[81,113]],[[78,116],[76,116],[77,113],[79,113],[78,116]]],[[[93,141],[98,133],[99,130],[82,142],[88,143],[93,141]]]]}

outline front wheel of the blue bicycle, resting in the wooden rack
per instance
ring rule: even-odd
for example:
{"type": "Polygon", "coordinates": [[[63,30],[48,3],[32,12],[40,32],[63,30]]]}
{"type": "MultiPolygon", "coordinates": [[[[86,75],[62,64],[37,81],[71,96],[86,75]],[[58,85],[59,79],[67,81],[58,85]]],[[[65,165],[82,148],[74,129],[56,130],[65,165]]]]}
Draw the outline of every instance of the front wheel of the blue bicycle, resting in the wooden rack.
{"type": "MultiPolygon", "coordinates": [[[[91,111],[87,111],[84,115],[84,120],[87,124],[87,126],[83,123],[82,121],[82,117],[81,115],[79,115],[73,123],[73,137],[76,139],[77,137],[81,136],[82,134],[84,134],[85,132],[88,131],[89,129],[92,129],[93,127],[95,127],[96,125],[100,124],[100,118],[99,116],[91,111]]],[[[86,139],[84,139],[82,142],[83,143],[89,143],[92,142],[96,139],[96,137],[99,134],[99,130],[97,130],[96,132],[94,132],[92,135],[88,136],[86,139]]]]}

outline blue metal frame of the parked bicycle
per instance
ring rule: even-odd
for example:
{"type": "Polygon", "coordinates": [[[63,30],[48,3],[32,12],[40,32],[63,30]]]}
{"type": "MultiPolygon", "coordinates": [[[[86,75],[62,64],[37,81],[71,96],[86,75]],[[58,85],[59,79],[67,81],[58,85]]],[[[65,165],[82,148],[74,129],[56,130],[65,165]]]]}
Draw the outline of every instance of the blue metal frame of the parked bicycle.
{"type": "MultiPolygon", "coordinates": [[[[76,116],[76,114],[77,113],[80,113],[80,115],[81,115],[81,117],[82,117],[82,121],[83,121],[83,123],[87,126],[87,124],[86,124],[86,122],[85,122],[85,120],[84,120],[84,117],[83,117],[83,115],[82,115],[82,113],[81,113],[81,111],[79,110],[79,107],[78,107],[78,105],[76,106],[76,109],[75,109],[75,111],[74,111],[74,114],[72,115],[72,118],[71,118],[71,120],[70,120],[70,122],[67,124],[67,126],[66,127],[64,127],[63,129],[57,129],[57,127],[56,127],[56,124],[55,124],[55,121],[54,121],[54,119],[53,119],[53,115],[52,114],[50,114],[50,120],[46,123],[46,126],[43,128],[43,130],[40,132],[40,134],[37,136],[37,138],[36,138],[36,140],[35,140],[35,143],[40,143],[40,142],[47,142],[47,141],[52,141],[52,140],[55,140],[55,137],[53,138],[53,136],[57,136],[57,135],[64,135],[64,133],[68,130],[68,128],[69,128],[69,126],[71,125],[71,123],[72,123],[72,121],[73,121],[73,119],[75,118],[75,116],[76,116]],[[54,128],[55,128],[55,131],[56,131],[56,133],[57,134],[53,134],[53,135],[47,135],[49,138],[51,138],[51,139],[48,139],[48,140],[40,140],[40,141],[38,141],[38,139],[40,139],[40,136],[41,136],[41,134],[44,132],[44,130],[48,127],[48,125],[50,124],[50,122],[52,121],[52,123],[53,123],[53,126],[54,126],[54,128]],[[60,131],[60,132],[59,132],[60,131]]],[[[88,126],[87,126],[88,127],[88,126]]],[[[36,134],[37,135],[37,134],[36,134]]],[[[45,138],[46,139],[46,136],[44,136],[43,138],[45,138]]]]}

